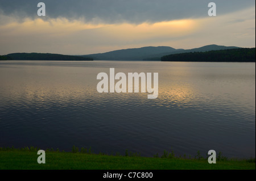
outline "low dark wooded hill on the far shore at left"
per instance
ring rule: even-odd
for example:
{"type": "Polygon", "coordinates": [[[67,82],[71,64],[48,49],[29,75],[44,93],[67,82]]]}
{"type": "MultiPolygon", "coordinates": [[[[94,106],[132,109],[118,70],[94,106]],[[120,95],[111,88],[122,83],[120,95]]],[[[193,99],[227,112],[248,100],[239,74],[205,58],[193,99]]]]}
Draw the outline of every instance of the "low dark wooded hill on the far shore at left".
{"type": "Polygon", "coordinates": [[[90,57],[71,56],[52,53],[11,53],[7,54],[13,60],[93,60],[90,57]]]}

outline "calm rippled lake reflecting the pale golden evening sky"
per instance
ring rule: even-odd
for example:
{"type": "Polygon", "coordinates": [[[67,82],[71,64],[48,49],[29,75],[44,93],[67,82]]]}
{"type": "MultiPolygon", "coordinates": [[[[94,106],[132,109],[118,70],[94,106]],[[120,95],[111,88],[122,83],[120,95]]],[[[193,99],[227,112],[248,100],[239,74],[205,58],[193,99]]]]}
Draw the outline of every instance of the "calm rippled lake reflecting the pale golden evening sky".
{"type": "Polygon", "coordinates": [[[0,147],[255,157],[255,63],[0,61],[0,147]],[[159,95],[99,93],[97,74],[159,74],[159,95]]]}

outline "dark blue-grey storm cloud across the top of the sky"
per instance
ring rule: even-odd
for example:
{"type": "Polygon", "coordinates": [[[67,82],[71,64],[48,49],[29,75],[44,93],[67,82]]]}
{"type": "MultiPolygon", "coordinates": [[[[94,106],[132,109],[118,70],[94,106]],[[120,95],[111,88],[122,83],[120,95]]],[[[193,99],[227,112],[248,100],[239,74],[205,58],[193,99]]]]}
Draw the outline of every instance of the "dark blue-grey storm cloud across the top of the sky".
{"type": "MultiPolygon", "coordinates": [[[[142,23],[208,16],[208,3],[215,2],[217,15],[255,6],[254,0],[0,0],[4,15],[36,18],[37,4],[46,3],[46,18],[82,18],[88,22],[142,23]]],[[[1,11],[0,11],[1,12],[1,11]]]]}

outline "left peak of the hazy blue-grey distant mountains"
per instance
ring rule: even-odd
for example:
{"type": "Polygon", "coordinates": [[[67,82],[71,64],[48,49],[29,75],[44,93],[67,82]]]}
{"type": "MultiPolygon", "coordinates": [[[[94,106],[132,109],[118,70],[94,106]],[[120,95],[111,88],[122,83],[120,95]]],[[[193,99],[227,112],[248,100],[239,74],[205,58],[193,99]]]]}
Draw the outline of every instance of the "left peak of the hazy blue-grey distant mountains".
{"type": "Polygon", "coordinates": [[[172,47],[142,47],[87,54],[84,56],[92,57],[94,60],[143,60],[143,58],[151,57],[155,54],[162,54],[164,56],[176,50],[172,47]]]}

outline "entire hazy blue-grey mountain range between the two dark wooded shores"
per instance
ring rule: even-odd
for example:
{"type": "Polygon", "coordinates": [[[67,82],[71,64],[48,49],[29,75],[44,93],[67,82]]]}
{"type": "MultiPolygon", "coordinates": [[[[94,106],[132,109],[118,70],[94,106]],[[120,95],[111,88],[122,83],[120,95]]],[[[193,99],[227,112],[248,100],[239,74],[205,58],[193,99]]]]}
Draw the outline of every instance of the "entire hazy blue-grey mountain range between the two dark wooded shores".
{"type": "Polygon", "coordinates": [[[209,50],[222,50],[233,48],[240,47],[225,47],[219,45],[207,45],[204,47],[193,49],[175,49],[172,47],[142,47],[114,50],[106,53],[87,54],[84,56],[92,57],[94,60],[160,60],[160,57],[166,56],[168,54],[206,52],[209,50]]]}

